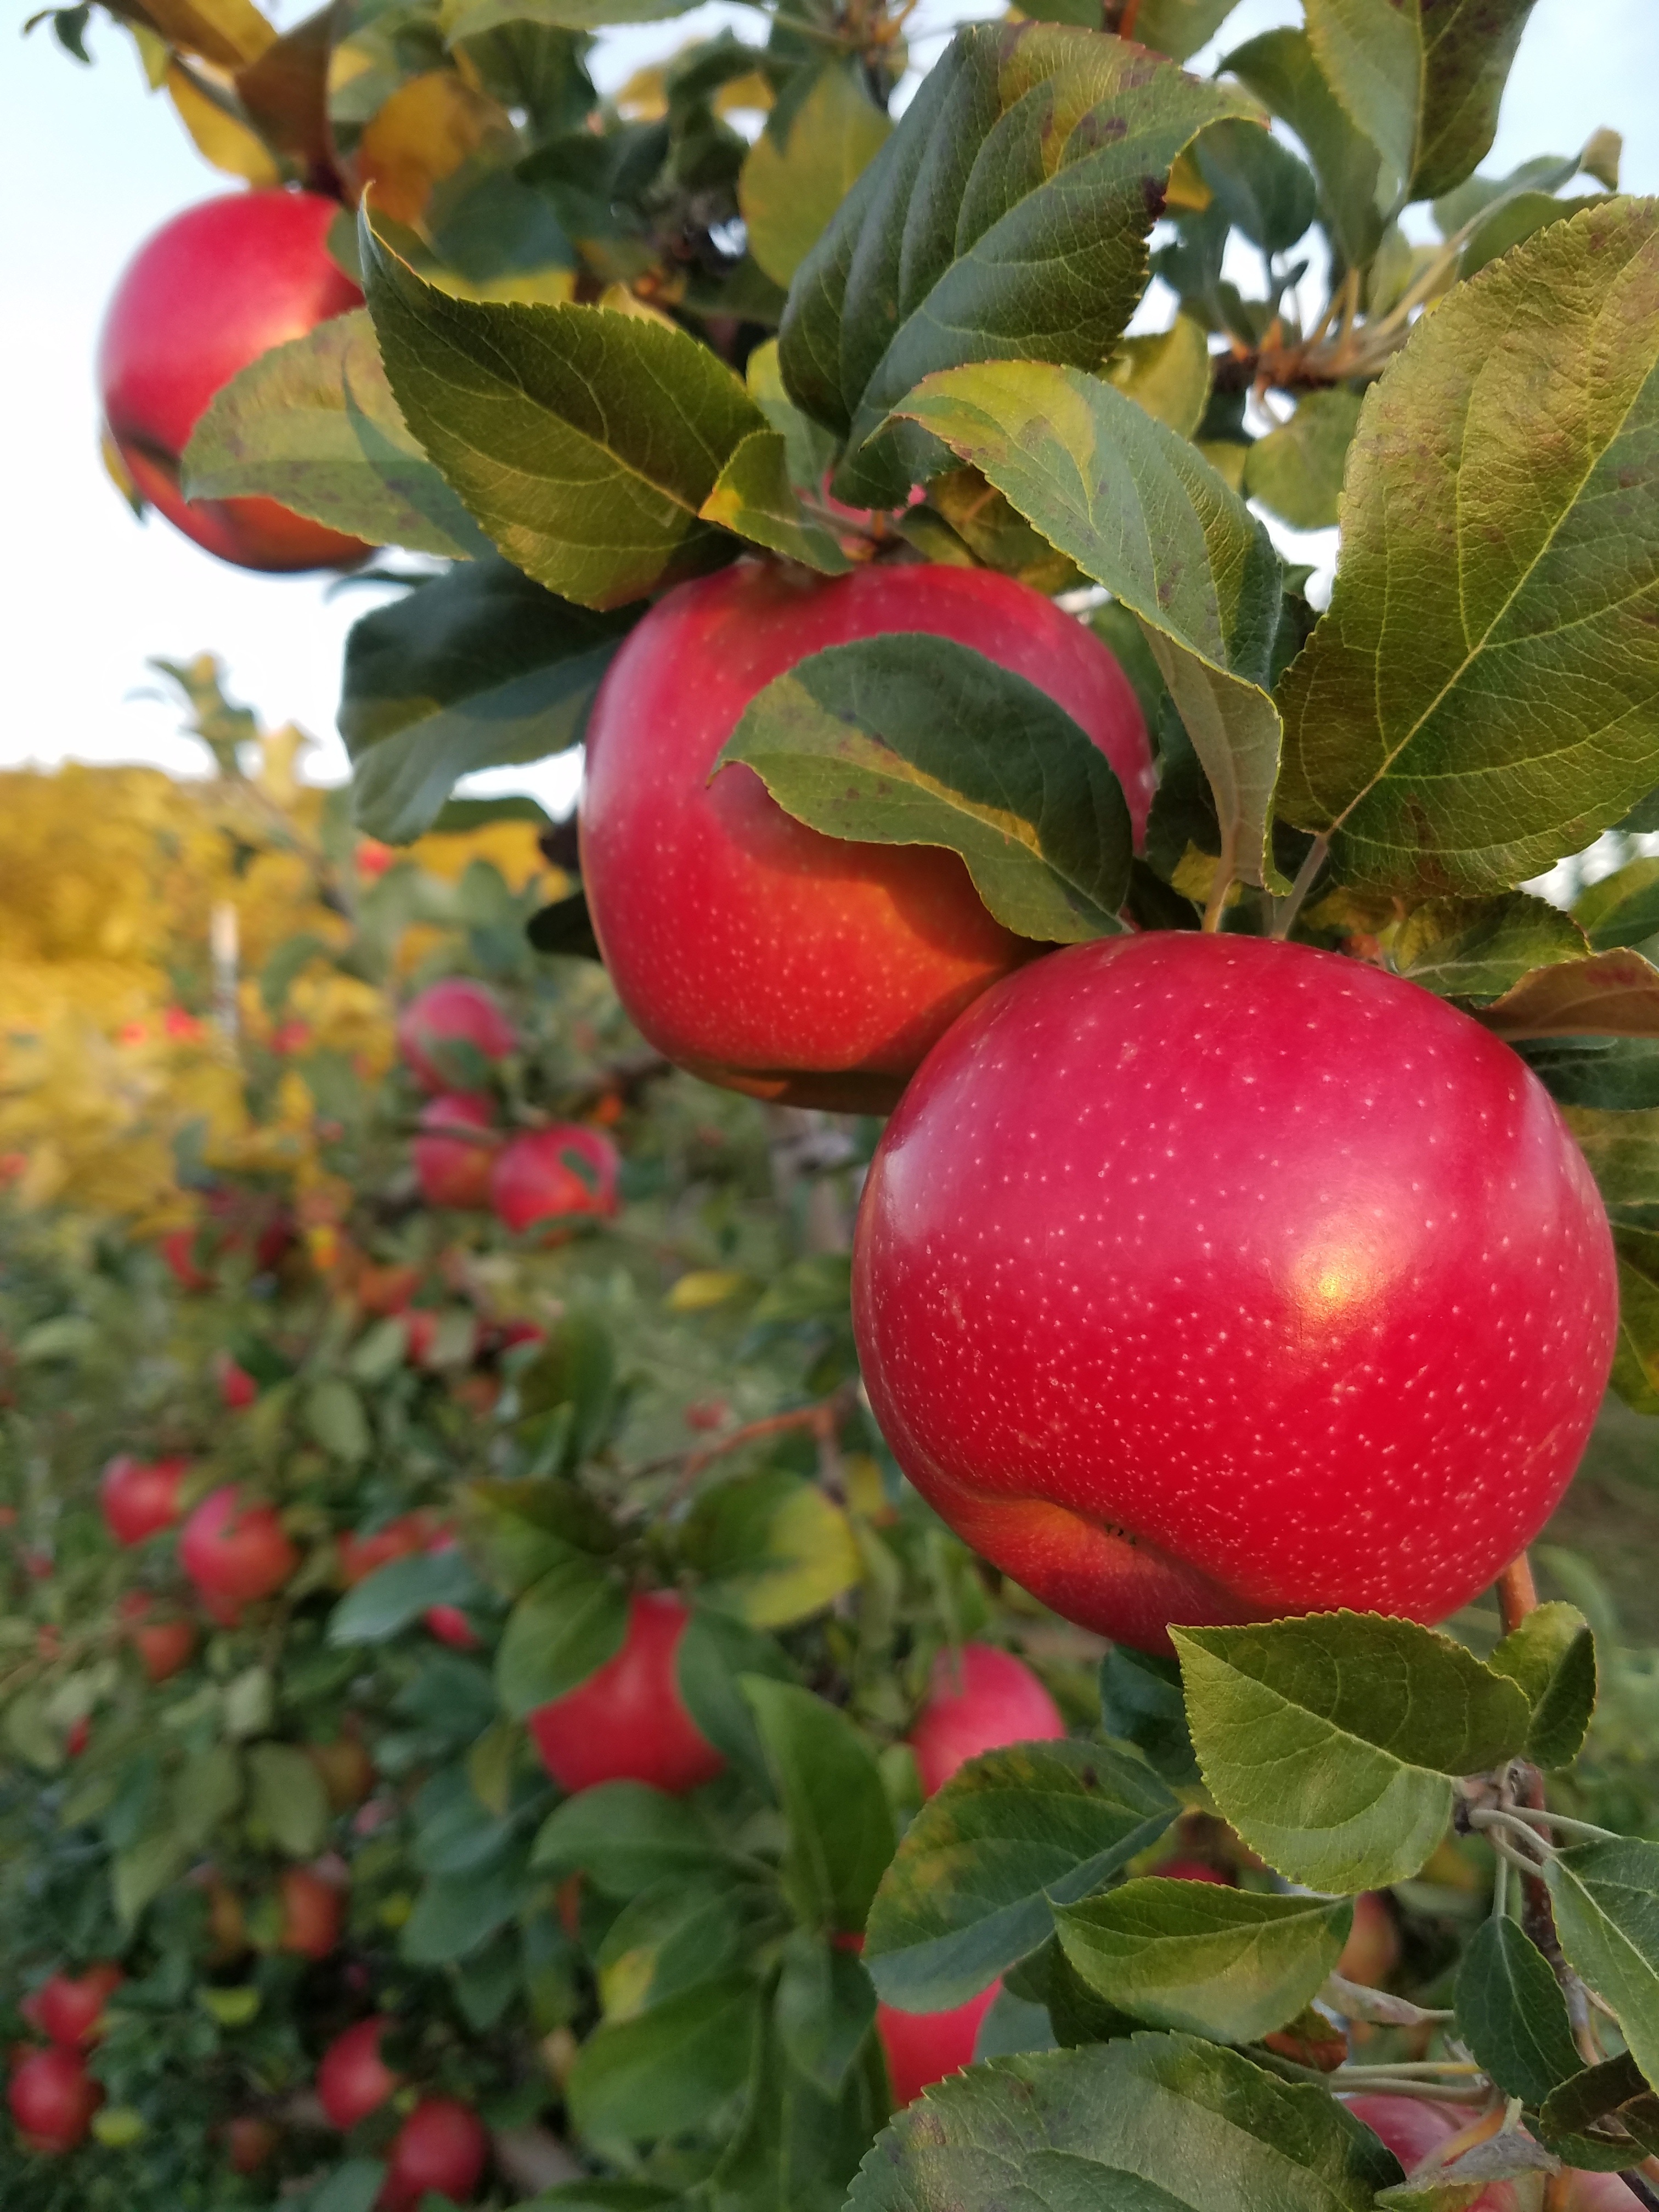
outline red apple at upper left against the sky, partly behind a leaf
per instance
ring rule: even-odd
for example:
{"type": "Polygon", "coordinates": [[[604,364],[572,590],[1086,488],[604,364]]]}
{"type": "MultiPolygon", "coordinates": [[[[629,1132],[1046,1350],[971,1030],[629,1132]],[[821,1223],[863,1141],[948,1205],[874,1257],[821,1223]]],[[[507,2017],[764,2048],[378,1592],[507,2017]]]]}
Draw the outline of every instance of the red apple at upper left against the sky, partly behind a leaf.
{"type": "Polygon", "coordinates": [[[166,520],[239,568],[332,568],[367,546],[274,500],[179,491],[179,456],[215,392],[272,345],[363,294],[327,254],[341,210],[319,192],[226,192],[175,215],[126,263],[97,341],[104,420],[166,520]]]}

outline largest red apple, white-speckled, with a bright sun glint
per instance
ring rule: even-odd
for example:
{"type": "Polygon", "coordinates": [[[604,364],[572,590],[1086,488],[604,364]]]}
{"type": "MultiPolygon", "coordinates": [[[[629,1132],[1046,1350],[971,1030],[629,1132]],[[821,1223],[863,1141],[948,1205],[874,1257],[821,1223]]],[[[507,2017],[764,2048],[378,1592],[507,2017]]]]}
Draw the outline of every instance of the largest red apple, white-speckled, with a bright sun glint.
{"type": "Polygon", "coordinates": [[[887,1124],[854,1329],[900,1467],[1066,1619],[1440,1621],[1542,1528],[1617,1327],[1590,1170],[1467,1013],[1263,938],[1068,947],[887,1124]]]}

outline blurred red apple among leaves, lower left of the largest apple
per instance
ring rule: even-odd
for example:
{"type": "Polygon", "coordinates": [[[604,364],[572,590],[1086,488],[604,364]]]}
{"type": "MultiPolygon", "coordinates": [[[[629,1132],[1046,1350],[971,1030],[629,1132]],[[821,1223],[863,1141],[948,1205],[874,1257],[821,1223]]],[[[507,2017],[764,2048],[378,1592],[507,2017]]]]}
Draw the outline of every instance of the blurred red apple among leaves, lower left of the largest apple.
{"type": "Polygon", "coordinates": [[[668,1590],[633,1597],[617,1657],[531,1714],[542,1765],[560,1790],[633,1781],[681,1792],[719,1774],[726,1761],[679,1694],[675,1666],[688,1621],[690,1610],[668,1590]]]}

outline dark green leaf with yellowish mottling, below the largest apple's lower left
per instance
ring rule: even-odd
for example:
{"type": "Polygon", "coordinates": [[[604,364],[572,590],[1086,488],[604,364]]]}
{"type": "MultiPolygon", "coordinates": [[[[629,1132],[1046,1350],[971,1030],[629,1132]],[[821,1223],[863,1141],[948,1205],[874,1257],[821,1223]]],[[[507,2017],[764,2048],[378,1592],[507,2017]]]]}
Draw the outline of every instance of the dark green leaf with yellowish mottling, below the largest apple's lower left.
{"type": "Polygon", "coordinates": [[[1095,1743],[1024,1743],[960,1767],[883,1876],[865,1964],[905,2013],[945,2011],[1053,1933],[1177,1814],[1164,1783],[1095,1743]]]}

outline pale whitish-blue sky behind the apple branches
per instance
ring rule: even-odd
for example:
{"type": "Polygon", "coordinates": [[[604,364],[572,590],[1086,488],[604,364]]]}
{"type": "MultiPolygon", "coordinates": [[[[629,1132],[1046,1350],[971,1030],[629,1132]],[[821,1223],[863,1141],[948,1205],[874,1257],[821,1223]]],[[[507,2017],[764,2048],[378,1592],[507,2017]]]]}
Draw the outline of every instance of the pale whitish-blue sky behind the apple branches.
{"type": "MultiPolygon", "coordinates": [[[[276,11],[279,20],[299,13],[299,4],[276,11]]],[[[918,20],[949,24],[978,13],[1000,13],[998,0],[922,0],[918,20]]],[[[1296,0],[1243,0],[1219,51],[1296,20],[1296,0]]],[[[613,33],[595,75],[615,86],[639,60],[719,22],[757,38],[761,18],[741,7],[703,7],[679,22],[613,33]]],[[[938,38],[916,44],[929,58],[938,51],[938,38]]],[[[336,781],[345,774],[334,732],[341,644],[374,593],[336,586],[330,597],[330,577],[228,568],[164,522],[135,522],[102,471],[93,347],[104,301],[157,223],[232,181],[210,170],[173,111],[146,95],[124,33],[100,20],[93,51],[97,66],[80,69],[42,24],[0,71],[0,168],[11,210],[9,343],[0,352],[9,491],[0,535],[0,765],[153,761],[199,772],[199,748],[177,737],[177,708],[144,697],[155,686],[144,664],[206,648],[223,659],[234,697],[270,723],[299,721],[321,741],[312,772],[336,781]]],[[[1212,60],[1206,53],[1192,66],[1212,60]]],[[[1624,188],[1655,192],[1655,0],[1540,0],[1486,168],[1502,173],[1535,153],[1568,153],[1610,124],[1626,139],[1624,188]]],[[[568,803],[566,765],[507,770],[495,781],[568,803]]]]}

